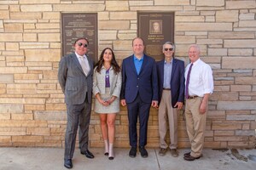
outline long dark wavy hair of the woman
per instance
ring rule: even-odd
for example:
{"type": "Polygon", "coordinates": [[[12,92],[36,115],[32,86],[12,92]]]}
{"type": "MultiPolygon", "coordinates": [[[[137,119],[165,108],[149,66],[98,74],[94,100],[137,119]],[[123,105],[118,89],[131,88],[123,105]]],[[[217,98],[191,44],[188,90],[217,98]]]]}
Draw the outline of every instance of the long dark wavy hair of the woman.
{"type": "Polygon", "coordinates": [[[100,59],[98,60],[98,62],[97,62],[96,65],[95,65],[95,66],[96,66],[96,71],[97,71],[97,72],[101,72],[102,66],[103,66],[103,64],[104,64],[103,56],[104,56],[104,53],[105,53],[105,51],[106,51],[107,49],[109,49],[109,50],[111,51],[111,53],[112,53],[111,66],[113,67],[113,72],[114,72],[115,74],[118,74],[121,69],[120,69],[118,63],[117,63],[116,60],[115,60],[115,57],[114,57],[114,54],[113,54],[113,50],[112,50],[111,48],[105,48],[105,49],[102,50],[102,54],[101,54],[101,56],[100,56],[100,59]]]}

